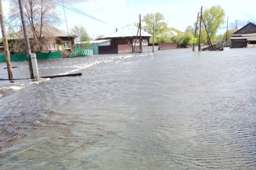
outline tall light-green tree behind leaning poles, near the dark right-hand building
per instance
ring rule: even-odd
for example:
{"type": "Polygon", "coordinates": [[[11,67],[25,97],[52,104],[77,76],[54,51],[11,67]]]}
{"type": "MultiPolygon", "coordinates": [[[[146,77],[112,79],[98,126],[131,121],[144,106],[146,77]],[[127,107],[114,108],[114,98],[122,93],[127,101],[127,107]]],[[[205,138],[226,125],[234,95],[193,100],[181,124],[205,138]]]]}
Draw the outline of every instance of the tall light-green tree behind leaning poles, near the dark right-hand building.
{"type": "Polygon", "coordinates": [[[213,40],[220,25],[224,24],[224,17],[225,11],[220,5],[212,6],[204,11],[203,18],[211,40],[213,40]]]}

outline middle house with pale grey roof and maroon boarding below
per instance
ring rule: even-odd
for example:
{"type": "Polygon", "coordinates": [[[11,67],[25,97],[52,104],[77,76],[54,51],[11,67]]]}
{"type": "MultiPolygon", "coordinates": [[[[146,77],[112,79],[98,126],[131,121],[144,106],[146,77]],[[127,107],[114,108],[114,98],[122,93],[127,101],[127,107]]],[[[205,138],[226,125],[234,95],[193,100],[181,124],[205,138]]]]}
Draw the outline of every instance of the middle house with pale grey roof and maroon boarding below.
{"type": "MultiPolygon", "coordinates": [[[[106,36],[98,38],[96,40],[110,40],[110,46],[99,46],[99,54],[111,54],[111,53],[125,53],[131,52],[131,45],[134,47],[140,46],[140,32],[136,39],[138,28],[136,26],[126,26],[120,30],[116,28],[115,32],[112,32],[106,36]]],[[[144,30],[141,30],[141,41],[143,51],[146,51],[146,47],[149,44],[149,38],[152,35],[148,34],[144,30]]]]}

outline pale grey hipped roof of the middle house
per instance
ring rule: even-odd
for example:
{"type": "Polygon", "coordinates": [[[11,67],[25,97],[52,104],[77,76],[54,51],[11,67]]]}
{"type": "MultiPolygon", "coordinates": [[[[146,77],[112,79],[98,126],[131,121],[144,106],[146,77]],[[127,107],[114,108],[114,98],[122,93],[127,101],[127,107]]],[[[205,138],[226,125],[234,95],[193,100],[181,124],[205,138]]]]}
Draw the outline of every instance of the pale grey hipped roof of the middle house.
{"type": "MultiPolygon", "coordinates": [[[[137,32],[138,32],[138,28],[136,26],[126,26],[116,32],[112,32],[101,38],[134,37],[134,36],[137,36],[137,32]]],[[[138,33],[138,36],[139,35],[140,35],[140,32],[138,33]]],[[[152,35],[148,34],[144,30],[141,30],[141,36],[152,37],[152,35]]],[[[98,38],[98,39],[101,39],[101,38],[98,38]]]]}

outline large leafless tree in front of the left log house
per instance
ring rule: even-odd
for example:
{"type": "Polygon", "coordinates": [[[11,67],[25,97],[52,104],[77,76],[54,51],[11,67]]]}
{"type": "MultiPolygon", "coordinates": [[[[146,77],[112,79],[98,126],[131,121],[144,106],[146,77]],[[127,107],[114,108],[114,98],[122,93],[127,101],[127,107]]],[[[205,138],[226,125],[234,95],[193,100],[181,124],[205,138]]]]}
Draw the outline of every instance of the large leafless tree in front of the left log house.
{"type": "MultiPolygon", "coordinates": [[[[34,52],[42,52],[43,45],[47,43],[47,38],[42,31],[43,26],[57,26],[61,24],[56,10],[56,4],[51,0],[23,0],[26,24],[32,38],[30,45],[34,52]]],[[[9,29],[15,33],[20,29],[21,18],[18,0],[10,0],[10,13],[8,17],[9,29]]],[[[23,38],[18,37],[20,40],[23,38]]]]}

